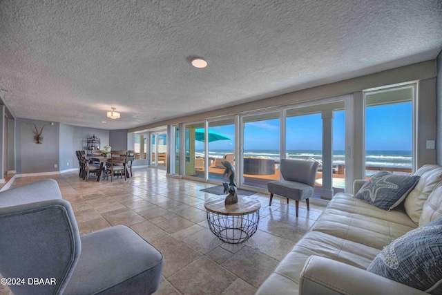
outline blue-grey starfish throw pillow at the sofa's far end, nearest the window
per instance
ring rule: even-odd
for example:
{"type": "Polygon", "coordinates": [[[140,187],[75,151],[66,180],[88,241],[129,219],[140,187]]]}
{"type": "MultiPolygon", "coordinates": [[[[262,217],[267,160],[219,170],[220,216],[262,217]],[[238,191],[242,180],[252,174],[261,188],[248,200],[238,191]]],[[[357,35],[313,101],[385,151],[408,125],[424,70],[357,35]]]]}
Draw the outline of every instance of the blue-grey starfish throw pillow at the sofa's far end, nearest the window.
{"type": "Polygon", "coordinates": [[[419,176],[398,175],[382,171],[365,182],[354,197],[390,211],[401,204],[418,181],[419,176]]]}

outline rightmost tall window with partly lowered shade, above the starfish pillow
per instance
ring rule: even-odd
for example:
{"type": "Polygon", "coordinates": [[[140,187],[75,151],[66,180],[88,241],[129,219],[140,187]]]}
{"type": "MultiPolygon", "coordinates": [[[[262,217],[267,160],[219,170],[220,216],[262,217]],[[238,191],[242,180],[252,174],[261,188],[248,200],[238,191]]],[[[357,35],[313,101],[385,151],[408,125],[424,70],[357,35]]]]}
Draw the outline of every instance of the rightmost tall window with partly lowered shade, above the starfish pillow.
{"type": "Polygon", "coordinates": [[[413,88],[365,93],[366,176],[412,172],[413,88]]]}

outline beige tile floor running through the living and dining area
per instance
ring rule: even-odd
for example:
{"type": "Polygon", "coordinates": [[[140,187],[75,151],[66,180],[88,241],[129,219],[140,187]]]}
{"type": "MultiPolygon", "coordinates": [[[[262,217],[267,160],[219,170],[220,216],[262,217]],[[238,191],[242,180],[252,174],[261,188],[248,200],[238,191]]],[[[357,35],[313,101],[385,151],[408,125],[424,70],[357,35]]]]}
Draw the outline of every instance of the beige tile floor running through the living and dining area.
{"type": "MultiPolygon", "coordinates": [[[[135,169],[128,180],[84,182],[77,173],[17,178],[19,187],[41,178],[59,183],[62,196],[72,204],[80,234],[113,225],[127,225],[164,255],[160,289],[155,294],[254,294],[314,224],[325,207],[256,193],[260,200],[258,231],[241,244],[228,244],[209,229],[204,200],[216,195],[200,189],[213,184],[166,177],[160,169],[135,169]]],[[[12,294],[0,286],[0,294],[12,294]]]]}

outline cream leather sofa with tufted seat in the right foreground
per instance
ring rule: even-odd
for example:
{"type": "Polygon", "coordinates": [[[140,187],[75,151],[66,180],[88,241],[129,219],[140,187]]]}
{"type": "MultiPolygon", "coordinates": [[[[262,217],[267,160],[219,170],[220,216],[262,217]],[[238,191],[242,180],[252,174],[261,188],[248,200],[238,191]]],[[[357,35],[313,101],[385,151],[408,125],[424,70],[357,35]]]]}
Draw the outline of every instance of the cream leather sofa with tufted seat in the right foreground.
{"type": "MultiPolygon", "coordinates": [[[[428,294],[366,270],[393,240],[442,217],[442,166],[414,175],[416,187],[391,211],[337,193],[256,294],[428,294]]],[[[355,193],[364,182],[356,180],[355,193]]]]}

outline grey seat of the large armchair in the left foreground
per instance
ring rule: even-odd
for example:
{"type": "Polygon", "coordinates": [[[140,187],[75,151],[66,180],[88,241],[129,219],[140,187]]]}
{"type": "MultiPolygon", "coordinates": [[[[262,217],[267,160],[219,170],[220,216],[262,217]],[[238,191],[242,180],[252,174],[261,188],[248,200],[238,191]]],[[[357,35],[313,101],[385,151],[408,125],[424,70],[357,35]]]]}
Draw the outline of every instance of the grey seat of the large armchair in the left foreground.
{"type": "Polygon", "coordinates": [[[135,231],[108,227],[81,237],[81,255],[64,294],[152,294],[163,266],[160,251],[135,231]],[[97,280],[99,274],[105,275],[97,280]]]}

